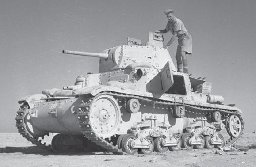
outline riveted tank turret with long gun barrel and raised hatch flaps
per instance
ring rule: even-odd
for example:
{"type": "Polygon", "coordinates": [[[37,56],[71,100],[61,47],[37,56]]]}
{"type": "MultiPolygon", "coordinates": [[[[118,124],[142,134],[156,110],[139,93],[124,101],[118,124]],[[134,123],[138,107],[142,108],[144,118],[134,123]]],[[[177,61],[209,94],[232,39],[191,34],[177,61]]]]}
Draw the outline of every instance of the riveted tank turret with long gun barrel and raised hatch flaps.
{"type": "Polygon", "coordinates": [[[63,50],[63,53],[93,56],[100,58],[99,72],[125,69],[129,66],[147,64],[155,69],[162,69],[167,61],[172,64],[172,71],[176,71],[172,58],[167,49],[163,48],[163,36],[149,32],[149,41],[142,46],[141,40],[128,37],[127,45],[106,49],[103,53],[89,53],[63,50]]]}

